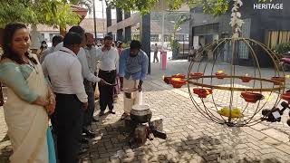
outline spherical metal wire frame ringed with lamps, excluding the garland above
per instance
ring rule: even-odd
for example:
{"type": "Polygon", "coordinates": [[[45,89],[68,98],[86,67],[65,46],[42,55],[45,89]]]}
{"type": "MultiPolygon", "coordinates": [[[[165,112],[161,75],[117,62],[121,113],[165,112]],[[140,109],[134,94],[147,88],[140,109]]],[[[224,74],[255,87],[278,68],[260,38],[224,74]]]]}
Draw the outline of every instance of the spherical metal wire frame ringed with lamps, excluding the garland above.
{"type": "MultiPolygon", "coordinates": [[[[187,79],[190,99],[194,107],[204,117],[208,118],[208,120],[212,120],[219,124],[227,124],[229,127],[255,125],[262,121],[260,114],[261,110],[265,109],[266,104],[268,104],[268,101],[265,100],[265,93],[269,93],[269,96],[275,94],[275,103],[273,105],[270,104],[275,108],[281,101],[280,95],[285,91],[285,72],[284,70],[279,70],[276,61],[279,61],[279,58],[271,49],[265,44],[259,43],[253,39],[233,37],[223,38],[214,43],[210,43],[203,51],[198,52],[197,56],[190,62],[187,79]],[[254,73],[250,72],[253,73],[251,76],[241,75],[239,66],[236,65],[239,53],[238,46],[241,43],[246,45],[249,57],[253,61],[254,73]],[[222,56],[222,50],[225,45],[231,47],[229,48],[231,49],[231,61],[227,65],[229,69],[226,70],[227,72],[215,72],[219,66],[217,64],[217,59],[222,56]],[[272,61],[271,64],[274,66],[272,71],[275,73],[270,79],[263,75],[256,55],[256,49],[259,49],[260,52],[263,51],[272,61]],[[202,62],[204,56],[208,56],[210,52],[215,56],[212,62],[209,62],[209,60],[202,62]],[[216,83],[218,80],[219,82],[228,81],[229,83],[217,85],[216,83]],[[247,86],[245,86],[245,84],[247,84],[247,86]],[[227,108],[224,104],[220,104],[216,101],[214,95],[217,91],[225,91],[229,94],[227,108]],[[240,97],[237,97],[237,92],[240,92],[240,97]],[[237,106],[237,102],[234,102],[237,101],[237,98],[243,98],[244,100],[240,99],[239,101],[243,101],[242,103],[245,103],[245,106],[242,106],[242,103],[237,106]],[[223,107],[224,110],[222,110],[223,107]],[[237,107],[240,109],[237,109],[237,107]],[[247,113],[246,110],[251,111],[247,113]],[[220,114],[220,111],[224,111],[224,114],[220,114]],[[239,112],[239,115],[234,115],[235,111],[239,112]]],[[[221,98],[221,96],[218,98],[221,98]]]]}

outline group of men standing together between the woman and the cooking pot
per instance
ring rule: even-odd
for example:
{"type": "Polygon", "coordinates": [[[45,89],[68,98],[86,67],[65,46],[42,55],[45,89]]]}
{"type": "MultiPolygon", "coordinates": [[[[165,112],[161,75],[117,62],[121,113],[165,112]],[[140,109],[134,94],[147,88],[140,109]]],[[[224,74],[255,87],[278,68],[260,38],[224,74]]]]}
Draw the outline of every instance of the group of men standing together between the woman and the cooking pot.
{"type": "MultiPolygon", "coordinates": [[[[96,121],[93,118],[93,84],[99,82],[99,115],[102,116],[107,107],[109,113],[115,114],[113,89],[116,76],[120,77],[121,90],[138,88],[141,91],[149,59],[140,50],[139,41],[131,41],[131,47],[119,54],[111,47],[111,36],[105,36],[103,46],[97,48],[93,35],[84,33],[81,26],[73,26],[64,38],[57,36],[53,40],[53,47],[47,49],[50,52],[43,52],[45,55],[41,58],[44,76],[51,82],[56,95],[51,120],[60,162],[74,163],[78,162],[82,133],[94,137],[87,128],[96,121]],[[98,76],[95,75],[97,62],[98,76]]],[[[138,101],[124,99],[124,110],[136,103],[138,101]]]]}

